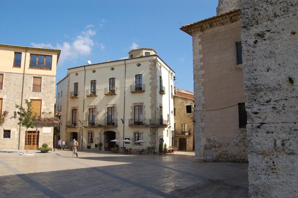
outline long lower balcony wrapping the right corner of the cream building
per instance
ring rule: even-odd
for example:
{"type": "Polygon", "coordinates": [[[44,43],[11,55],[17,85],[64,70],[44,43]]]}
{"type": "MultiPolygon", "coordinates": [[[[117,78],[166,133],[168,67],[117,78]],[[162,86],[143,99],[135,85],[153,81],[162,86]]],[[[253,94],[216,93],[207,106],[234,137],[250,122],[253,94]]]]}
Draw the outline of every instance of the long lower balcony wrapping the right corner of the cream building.
{"type": "Polygon", "coordinates": [[[146,118],[146,119],[129,119],[129,127],[167,127],[168,121],[159,118],[146,118]]]}

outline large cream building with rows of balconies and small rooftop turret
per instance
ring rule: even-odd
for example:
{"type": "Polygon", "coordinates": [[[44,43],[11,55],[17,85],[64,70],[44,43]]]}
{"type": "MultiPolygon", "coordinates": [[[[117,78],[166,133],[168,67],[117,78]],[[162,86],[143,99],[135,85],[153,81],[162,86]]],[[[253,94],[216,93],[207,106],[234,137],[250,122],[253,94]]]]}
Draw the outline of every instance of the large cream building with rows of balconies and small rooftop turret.
{"type": "Polygon", "coordinates": [[[62,139],[78,139],[80,149],[100,142],[109,149],[114,139],[146,141],[117,142],[133,149],[172,144],[175,73],[154,49],[134,49],[129,57],[68,69],[57,83],[62,139]]]}

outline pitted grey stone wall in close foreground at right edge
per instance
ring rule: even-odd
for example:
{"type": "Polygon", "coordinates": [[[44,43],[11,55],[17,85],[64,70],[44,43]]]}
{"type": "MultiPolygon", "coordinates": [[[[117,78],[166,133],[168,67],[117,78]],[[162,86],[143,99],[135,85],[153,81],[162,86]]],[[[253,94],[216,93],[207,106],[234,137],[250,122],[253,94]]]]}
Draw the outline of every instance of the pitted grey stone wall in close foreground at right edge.
{"type": "Polygon", "coordinates": [[[297,197],[297,0],[241,1],[249,196],[297,197]]]}

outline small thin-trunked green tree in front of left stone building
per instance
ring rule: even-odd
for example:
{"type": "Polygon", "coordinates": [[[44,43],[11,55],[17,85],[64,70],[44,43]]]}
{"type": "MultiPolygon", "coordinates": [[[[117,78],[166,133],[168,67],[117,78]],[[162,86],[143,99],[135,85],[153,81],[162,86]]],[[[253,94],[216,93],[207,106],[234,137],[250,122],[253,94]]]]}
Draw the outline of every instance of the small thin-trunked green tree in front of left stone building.
{"type": "Polygon", "coordinates": [[[29,102],[27,99],[25,99],[25,103],[27,108],[25,109],[22,106],[19,105],[15,105],[16,108],[18,108],[18,115],[20,115],[20,117],[18,118],[19,122],[18,125],[22,126],[26,126],[26,153],[28,154],[28,128],[33,128],[34,127],[34,121],[36,119],[35,115],[32,115],[32,111],[31,111],[31,102],[29,102]]]}

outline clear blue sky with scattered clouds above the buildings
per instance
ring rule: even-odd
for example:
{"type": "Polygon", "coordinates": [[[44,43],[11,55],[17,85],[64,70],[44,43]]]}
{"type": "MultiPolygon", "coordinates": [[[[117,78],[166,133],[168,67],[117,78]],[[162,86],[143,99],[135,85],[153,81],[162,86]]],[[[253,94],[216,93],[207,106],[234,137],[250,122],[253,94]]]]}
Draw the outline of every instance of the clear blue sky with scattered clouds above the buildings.
{"type": "Polygon", "coordinates": [[[61,49],[57,78],[67,68],[128,57],[154,48],[193,91],[192,37],[179,28],[216,15],[218,0],[4,1],[0,43],[61,49]],[[4,17],[6,16],[6,17],[4,17]],[[90,56],[90,57],[88,57],[90,56]]]}

